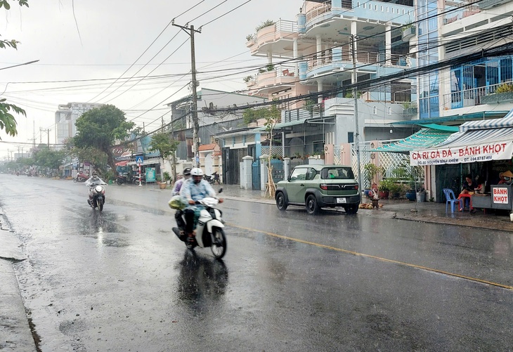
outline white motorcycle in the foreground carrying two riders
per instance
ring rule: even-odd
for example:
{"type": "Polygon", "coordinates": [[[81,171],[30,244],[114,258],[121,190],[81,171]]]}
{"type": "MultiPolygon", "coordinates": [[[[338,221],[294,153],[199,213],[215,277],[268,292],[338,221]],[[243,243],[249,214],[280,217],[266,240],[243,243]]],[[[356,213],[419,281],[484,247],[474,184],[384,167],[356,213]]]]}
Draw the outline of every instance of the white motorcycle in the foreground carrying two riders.
{"type": "MultiPolygon", "coordinates": [[[[219,190],[219,193],[221,192],[222,189],[219,190]]],[[[200,211],[200,219],[197,220],[197,226],[195,228],[196,236],[194,239],[188,239],[187,235],[181,228],[175,227],[172,230],[179,240],[186,243],[186,247],[188,249],[194,249],[195,247],[210,247],[212,254],[214,254],[216,259],[221,259],[224,254],[226,254],[227,244],[226,235],[223,230],[224,221],[221,218],[221,211],[214,208],[214,206],[219,204],[219,200],[217,198],[206,197],[202,200],[196,201],[196,204],[201,204],[204,209],[200,211]]]]}

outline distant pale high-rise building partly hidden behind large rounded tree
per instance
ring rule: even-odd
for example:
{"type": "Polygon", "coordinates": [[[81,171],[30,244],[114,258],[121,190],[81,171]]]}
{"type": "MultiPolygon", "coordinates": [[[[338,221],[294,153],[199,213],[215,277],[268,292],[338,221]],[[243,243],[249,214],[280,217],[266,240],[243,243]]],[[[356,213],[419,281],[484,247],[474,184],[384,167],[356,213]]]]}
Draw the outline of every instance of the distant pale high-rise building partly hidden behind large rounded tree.
{"type": "Polygon", "coordinates": [[[56,111],[56,144],[62,144],[67,138],[77,134],[75,122],[84,112],[102,104],[96,103],[67,103],[59,105],[56,111]]]}

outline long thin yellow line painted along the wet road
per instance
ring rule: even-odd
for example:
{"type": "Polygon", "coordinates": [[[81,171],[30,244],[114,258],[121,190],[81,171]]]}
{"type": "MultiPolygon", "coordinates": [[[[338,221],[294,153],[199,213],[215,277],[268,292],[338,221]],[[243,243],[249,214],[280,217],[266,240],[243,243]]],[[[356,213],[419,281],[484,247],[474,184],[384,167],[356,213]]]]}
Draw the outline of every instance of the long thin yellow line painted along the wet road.
{"type": "Polygon", "coordinates": [[[404,261],[394,261],[392,259],[382,258],[381,256],[373,256],[371,254],[349,251],[348,249],[342,249],[342,248],[337,248],[337,247],[332,247],[332,246],[327,246],[327,245],[321,245],[320,243],[300,240],[299,238],[288,237],[288,236],[284,236],[284,235],[278,235],[278,233],[268,233],[266,231],[256,230],[254,228],[246,228],[244,226],[234,225],[233,223],[230,223],[230,224],[227,223],[227,225],[229,225],[233,228],[240,228],[242,230],[249,230],[249,231],[253,231],[253,232],[257,232],[257,233],[264,233],[265,235],[282,238],[283,240],[290,240],[290,241],[294,241],[294,242],[304,243],[305,245],[312,245],[312,246],[316,246],[316,247],[320,247],[320,248],[331,249],[331,250],[337,251],[337,252],[353,254],[354,256],[364,256],[365,258],[377,259],[379,261],[387,261],[388,263],[399,264],[402,266],[409,266],[410,268],[423,269],[423,270],[432,271],[434,273],[440,273],[440,274],[444,274],[444,275],[454,276],[455,278],[462,278],[465,280],[481,282],[483,284],[488,284],[488,285],[492,285],[492,286],[496,286],[496,287],[502,287],[503,289],[513,289],[513,286],[502,285],[497,282],[491,282],[491,281],[481,280],[478,278],[472,278],[471,276],[465,276],[465,275],[460,275],[460,274],[456,274],[456,273],[450,273],[448,271],[443,271],[443,270],[439,270],[439,269],[428,268],[427,266],[418,266],[416,264],[405,263],[404,261]]]}

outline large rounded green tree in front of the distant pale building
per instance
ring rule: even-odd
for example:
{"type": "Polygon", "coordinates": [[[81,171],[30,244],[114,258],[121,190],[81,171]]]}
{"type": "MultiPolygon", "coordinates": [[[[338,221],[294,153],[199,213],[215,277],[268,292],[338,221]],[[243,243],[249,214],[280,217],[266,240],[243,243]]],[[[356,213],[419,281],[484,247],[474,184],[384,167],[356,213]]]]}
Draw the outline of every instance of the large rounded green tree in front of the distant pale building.
{"type": "MultiPolygon", "coordinates": [[[[105,153],[107,164],[115,170],[112,147],[117,145],[117,141],[126,141],[131,131],[134,131],[135,124],[126,121],[124,112],[114,105],[103,105],[84,112],[75,122],[75,126],[77,135],[72,140],[74,148],[105,153]]],[[[78,153],[77,150],[75,152],[78,153]]]]}

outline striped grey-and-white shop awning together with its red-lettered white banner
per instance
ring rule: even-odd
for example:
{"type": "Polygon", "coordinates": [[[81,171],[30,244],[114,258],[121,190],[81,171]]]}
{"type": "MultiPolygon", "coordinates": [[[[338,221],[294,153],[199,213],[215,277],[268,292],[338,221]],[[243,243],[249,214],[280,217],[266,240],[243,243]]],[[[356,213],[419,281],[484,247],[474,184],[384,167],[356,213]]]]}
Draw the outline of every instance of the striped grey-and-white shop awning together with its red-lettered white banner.
{"type": "Polygon", "coordinates": [[[410,152],[411,165],[460,164],[511,159],[513,127],[454,133],[436,148],[410,152]]]}

